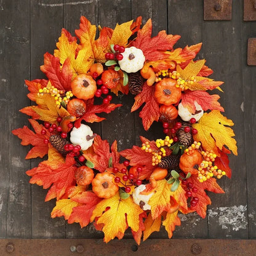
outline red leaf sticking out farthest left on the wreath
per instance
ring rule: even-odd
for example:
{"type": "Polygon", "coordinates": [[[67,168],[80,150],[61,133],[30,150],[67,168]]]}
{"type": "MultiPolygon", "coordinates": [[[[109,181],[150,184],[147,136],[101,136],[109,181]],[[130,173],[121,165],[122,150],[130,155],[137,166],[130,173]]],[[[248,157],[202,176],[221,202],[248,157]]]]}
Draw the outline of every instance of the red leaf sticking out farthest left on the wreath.
{"type": "Polygon", "coordinates": [[[31,158],[43,158],[47,153],[49,146],[48,144],[44,143],[44,139],[50,138],[50,132],[47,130],[45,135],[41,134],[41,130],[44,128],[41,124],[39,124],[37,121],[28,119],[30,121],[31,126],[33,127],[34,133],[32,130],[30,130],[27,126],[24,126],[23,128],[18,128],[15,130],[12,130],[12,133],[14,135],[17,135],[18,138],[22,140],[21,144],[23,146],[32,145],[33,148],[28,152],[25,159],[31,159],[31,158]]]}

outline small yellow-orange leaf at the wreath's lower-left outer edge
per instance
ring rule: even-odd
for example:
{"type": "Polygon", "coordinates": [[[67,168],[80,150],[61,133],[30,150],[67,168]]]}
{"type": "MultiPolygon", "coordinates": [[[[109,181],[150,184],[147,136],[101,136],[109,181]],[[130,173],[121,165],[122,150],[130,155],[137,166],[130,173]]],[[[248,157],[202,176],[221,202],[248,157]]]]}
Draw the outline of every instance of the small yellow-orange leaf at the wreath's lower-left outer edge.
{"type": "Polygon", "coordinates": [[[52,210],[50,217],[55,218],[63,216],[65,220],[68,220],[73,211],[73,207],[76,206],[81,206],[81,204],[79,204],[79,202],[74,202],[71,199],[60,199],[56,201],[56,206],[52,210]]]}

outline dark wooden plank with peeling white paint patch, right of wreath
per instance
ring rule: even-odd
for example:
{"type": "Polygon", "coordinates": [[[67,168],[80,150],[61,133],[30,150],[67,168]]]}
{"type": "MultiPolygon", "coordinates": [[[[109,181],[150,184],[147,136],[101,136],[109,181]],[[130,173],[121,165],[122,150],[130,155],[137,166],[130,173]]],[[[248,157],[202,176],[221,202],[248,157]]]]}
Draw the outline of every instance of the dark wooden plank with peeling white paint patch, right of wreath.
{"type": "MultiPolygon", "coordinates": [[[[234,122],[234,133],[238,141],[239,156],[230,156],[233,170],[231,180],[223,178],[219,184],[225,194],[210,194],[212,206],[209,207],[209,238],[248,238],[247,192],[246,192],[246,148],[244,145],[244,92],[241,89],[241,30],[242,2],[233,4],[233,18],[230,22],[204,22],[202,38],[204,58],[214,70],[211,78],[224,81],[220,93],[220,103],[225,108],[224,116],[234,122]],[[236,42],[236,43],[234,43],[236,42]],[[234,54],[236,53],[236,54],[234,54]]],[[[216,93],[214,91],[214,93],[216,93]]]]}

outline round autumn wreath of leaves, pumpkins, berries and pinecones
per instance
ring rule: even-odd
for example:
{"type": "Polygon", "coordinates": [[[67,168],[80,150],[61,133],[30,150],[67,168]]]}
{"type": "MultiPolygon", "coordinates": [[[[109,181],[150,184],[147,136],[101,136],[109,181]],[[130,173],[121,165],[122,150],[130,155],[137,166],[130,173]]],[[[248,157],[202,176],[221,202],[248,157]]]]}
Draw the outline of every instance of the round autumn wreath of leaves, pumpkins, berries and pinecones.
{"type": "Polygon", "coordinates": [[[220,97],[207,92],[222,91],[223,82],[208,78],[205,60],[193,60],[201,44],[173,49],[180,36],[160,31],[151,37],[151,20],[141,23],[138,17],[114,30],[100,28],[98,39],[85,17],[76,37],[63,29],[54,55],[44,55],[47,79],[26,81],[36,105],[20,111],[31,116],[34,132],[27,126],[12,131],[22,145],[32,145],[26,159],[47,155],[26,174],[49,188],[46,201],[57,199],[51,216],[81,227],[94,222],[105,242],[121,239],[130,227],[140,244],[161,224],[171,238],[181,224],[178,212],[206,217],[205,190],[224,193],[217,179],[231,177],[227,154],[237,154],[233,122],[222,115],[220,97]],[[88,124],[121,106],[110,103],[113,94],[129,92],[135,95],[131,111],[145,103],[144,129],[162,122],[166,135],[140,137],[142,145],[118,152],[116,141],[110,146],[88,124]]]}

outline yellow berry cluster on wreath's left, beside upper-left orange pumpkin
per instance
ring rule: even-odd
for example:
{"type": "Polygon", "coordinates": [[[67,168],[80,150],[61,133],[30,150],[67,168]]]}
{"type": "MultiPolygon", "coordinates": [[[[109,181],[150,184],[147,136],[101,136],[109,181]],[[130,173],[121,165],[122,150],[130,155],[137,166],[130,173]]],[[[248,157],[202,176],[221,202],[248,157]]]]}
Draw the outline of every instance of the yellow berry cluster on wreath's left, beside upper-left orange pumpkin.
{"type": "Polygon", "coordinates": [[[38,95],[42,96],[44,94],[52,95],[52,97],[54,97],[55,99],[56,105],[60,105],[62,101],[68,104],[68,102],[70,101],[70,98],[73,97],[71,90],[66,92],[65,94],[65,90],[58,90],[57,88],[52,86],[50,83],[47,84],[46,87],[39,89],[38,95]]]}

